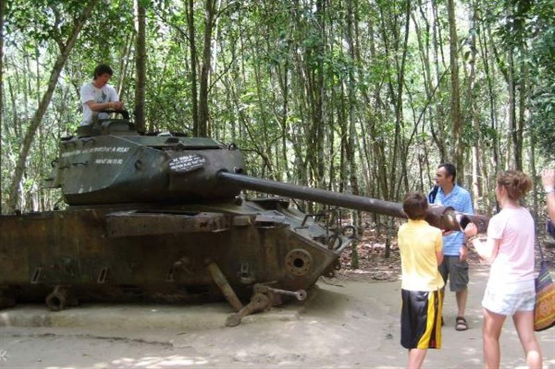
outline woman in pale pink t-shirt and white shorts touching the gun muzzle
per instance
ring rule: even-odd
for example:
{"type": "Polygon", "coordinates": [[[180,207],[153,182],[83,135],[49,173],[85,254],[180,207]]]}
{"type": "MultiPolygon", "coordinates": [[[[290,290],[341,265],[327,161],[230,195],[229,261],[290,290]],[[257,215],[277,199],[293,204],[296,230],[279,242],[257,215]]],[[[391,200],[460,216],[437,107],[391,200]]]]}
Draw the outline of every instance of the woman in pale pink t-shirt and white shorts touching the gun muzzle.
{"type": "Polygon", "coordinates": [[[520,199],[531,187],[532,181],[522,172],[508,170],[499,174],[495,197],[502,210],[490,219],[488,239],[470,239],[477,233],[474,224],[465,229],[481,258],[491,264],[481,302],[486,368],[499,368],[499,335],[507,316],[513,316],[529,368],[542,368],[540,345],[533,333],[534,225],[529,211],[520,206],[520,199]]]}

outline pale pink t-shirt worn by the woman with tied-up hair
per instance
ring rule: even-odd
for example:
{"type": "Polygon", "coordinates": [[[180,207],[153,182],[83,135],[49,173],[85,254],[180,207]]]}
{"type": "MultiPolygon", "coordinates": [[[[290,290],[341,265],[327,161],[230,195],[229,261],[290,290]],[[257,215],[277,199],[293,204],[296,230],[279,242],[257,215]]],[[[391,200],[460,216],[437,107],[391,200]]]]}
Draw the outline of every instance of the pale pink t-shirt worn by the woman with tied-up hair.
{"type": "Polygon", "coordinates": [[[488,284],[533,288],[533,219],[526,208],[504,208],[490,219],[488,238],[501,240],[488,284]]]}

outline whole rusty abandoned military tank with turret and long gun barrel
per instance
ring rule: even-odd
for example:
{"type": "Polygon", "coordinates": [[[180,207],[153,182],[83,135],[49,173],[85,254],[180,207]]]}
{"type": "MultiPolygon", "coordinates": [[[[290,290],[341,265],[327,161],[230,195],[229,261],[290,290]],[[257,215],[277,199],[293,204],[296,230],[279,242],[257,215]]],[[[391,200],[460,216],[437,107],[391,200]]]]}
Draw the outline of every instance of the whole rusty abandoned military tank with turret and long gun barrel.
{"type": "MultiPolygon", "coordinates": [[[[228,325],[237,325],[287,298],[304,300],[340,268],[352,242],[289,198],[405,217],[393,202],[249,177],[235,145],[139,134],[118,113],[60,142],[46,182],[61,188],[67,210],[0,218],[0,307],[223,296],[236,312],[228,325]],[[246,200],[244,189],[282,197],[246,200]]],[[[443,229],[487,226],[485,217],[441,206],[427,220],[443,229]]]]}

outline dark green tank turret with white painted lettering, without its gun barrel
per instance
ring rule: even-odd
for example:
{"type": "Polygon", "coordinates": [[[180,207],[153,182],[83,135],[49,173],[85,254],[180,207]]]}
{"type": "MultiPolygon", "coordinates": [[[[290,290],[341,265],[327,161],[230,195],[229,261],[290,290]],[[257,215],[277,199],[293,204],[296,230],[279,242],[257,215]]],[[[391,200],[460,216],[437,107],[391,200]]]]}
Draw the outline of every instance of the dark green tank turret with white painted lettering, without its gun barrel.
{"type": "Polygon", "coordinates": [[[235,186],[216,174],[244,171],[234,145],[169,132],[140,135],[126,119],[80,127],[62,139],[48,186],[61,188],[69,205],[230,199],[235,186]]]}

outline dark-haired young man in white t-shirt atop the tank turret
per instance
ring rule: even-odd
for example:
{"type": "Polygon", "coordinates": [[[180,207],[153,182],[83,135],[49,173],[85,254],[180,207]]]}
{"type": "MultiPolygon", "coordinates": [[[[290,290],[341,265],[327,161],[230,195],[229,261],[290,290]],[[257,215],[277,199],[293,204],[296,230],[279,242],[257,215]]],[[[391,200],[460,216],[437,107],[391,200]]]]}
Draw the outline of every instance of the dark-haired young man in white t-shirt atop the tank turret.
{"type": "Polygon", "coordinates": [[[92,82],[81,87],[81,102],[83,102],[83,122],[81,125],[92,123],[94,114],[99,114],[99,119],[108,118],[106,113],[97,113],[103,110],[121,110],[123,102],[119,101],[116,89],[108,81],[112,77],[112,69],[106,64],[99,64],[94,69],[92,82]]]}

